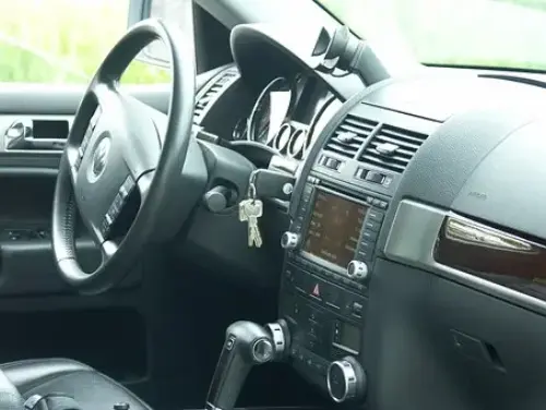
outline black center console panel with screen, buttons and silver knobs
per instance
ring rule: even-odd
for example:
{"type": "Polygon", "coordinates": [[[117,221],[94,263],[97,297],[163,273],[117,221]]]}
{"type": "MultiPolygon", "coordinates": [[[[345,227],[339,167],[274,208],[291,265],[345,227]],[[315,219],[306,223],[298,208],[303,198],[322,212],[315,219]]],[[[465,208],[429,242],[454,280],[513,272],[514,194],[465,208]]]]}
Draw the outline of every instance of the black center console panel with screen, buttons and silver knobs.
{"type": "Polygon", "coordinates": [[[282,238],[286,250],[280,317],[292,337],[288,358],[335,401],[357,398],[368,279],[389,203],[310,177],[282,238]]]}

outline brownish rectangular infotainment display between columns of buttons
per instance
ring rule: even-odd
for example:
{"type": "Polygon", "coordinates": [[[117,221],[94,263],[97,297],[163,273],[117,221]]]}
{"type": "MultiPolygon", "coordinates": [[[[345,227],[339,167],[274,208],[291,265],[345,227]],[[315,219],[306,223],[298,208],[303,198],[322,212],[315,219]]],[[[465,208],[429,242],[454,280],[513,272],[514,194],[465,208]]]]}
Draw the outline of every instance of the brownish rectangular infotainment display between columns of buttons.
{"type": "Polygon", "coordinates": [[[368,206],[319,190],[304,251],[342,268],[355,257],[368,206]]]}

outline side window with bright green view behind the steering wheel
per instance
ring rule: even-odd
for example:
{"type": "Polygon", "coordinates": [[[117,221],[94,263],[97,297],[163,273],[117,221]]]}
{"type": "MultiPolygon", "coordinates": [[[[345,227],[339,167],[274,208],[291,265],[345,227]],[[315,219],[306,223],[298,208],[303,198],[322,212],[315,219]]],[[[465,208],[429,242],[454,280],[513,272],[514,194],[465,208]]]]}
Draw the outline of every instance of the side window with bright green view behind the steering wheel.
{"type": "MultiPolygon", "coordinates": [[[[0,0],[0,82],[86,84],[127,29],[129,0],[0,0]]],[[[169,80],[133,61],[124,84],[169,80]]]]}

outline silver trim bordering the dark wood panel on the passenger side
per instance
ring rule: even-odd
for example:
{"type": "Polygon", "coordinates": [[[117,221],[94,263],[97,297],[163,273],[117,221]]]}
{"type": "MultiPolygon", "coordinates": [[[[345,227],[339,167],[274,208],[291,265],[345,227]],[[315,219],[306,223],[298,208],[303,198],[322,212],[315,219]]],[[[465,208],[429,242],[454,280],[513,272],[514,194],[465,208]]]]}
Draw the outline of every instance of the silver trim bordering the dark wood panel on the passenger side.
{"type": "Polygon", "coordinates": [[[484,293],[546,314],[546,302],[506,288],[435,261],[434,250],[444,218],[456,215],[449,210],[411,200],[399,204],[384,254],[388,260],[431,272],[484,293]]]}

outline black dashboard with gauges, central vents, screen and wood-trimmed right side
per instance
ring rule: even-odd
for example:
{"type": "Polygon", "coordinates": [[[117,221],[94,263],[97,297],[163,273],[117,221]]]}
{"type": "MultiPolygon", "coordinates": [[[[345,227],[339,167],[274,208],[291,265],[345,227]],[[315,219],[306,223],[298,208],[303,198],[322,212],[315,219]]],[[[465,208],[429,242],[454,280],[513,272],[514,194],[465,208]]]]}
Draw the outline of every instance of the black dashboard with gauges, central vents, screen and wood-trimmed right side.
{"type": "MultiPolygon", "coordinates": [[[[257,167],[295,164],[289,202],[262,218],[282,263],[230,260],[280,278],[287,361],[336,402],[509,409],[519,388],[544,399],[530,384],[546,379],[546,84],[425,70],[347,95],[349,79],[271,32],[238,33],[237,65],[198,95],[194,122],[215,130],[219,112],[226,146],[257,167]],[[245,36],[262,75],[245,74],[245,36]],[[529,326],[541,330],[510,337],[529,326]]],[[[223,246],[210,251],[234,252],[223,246]]]]}

